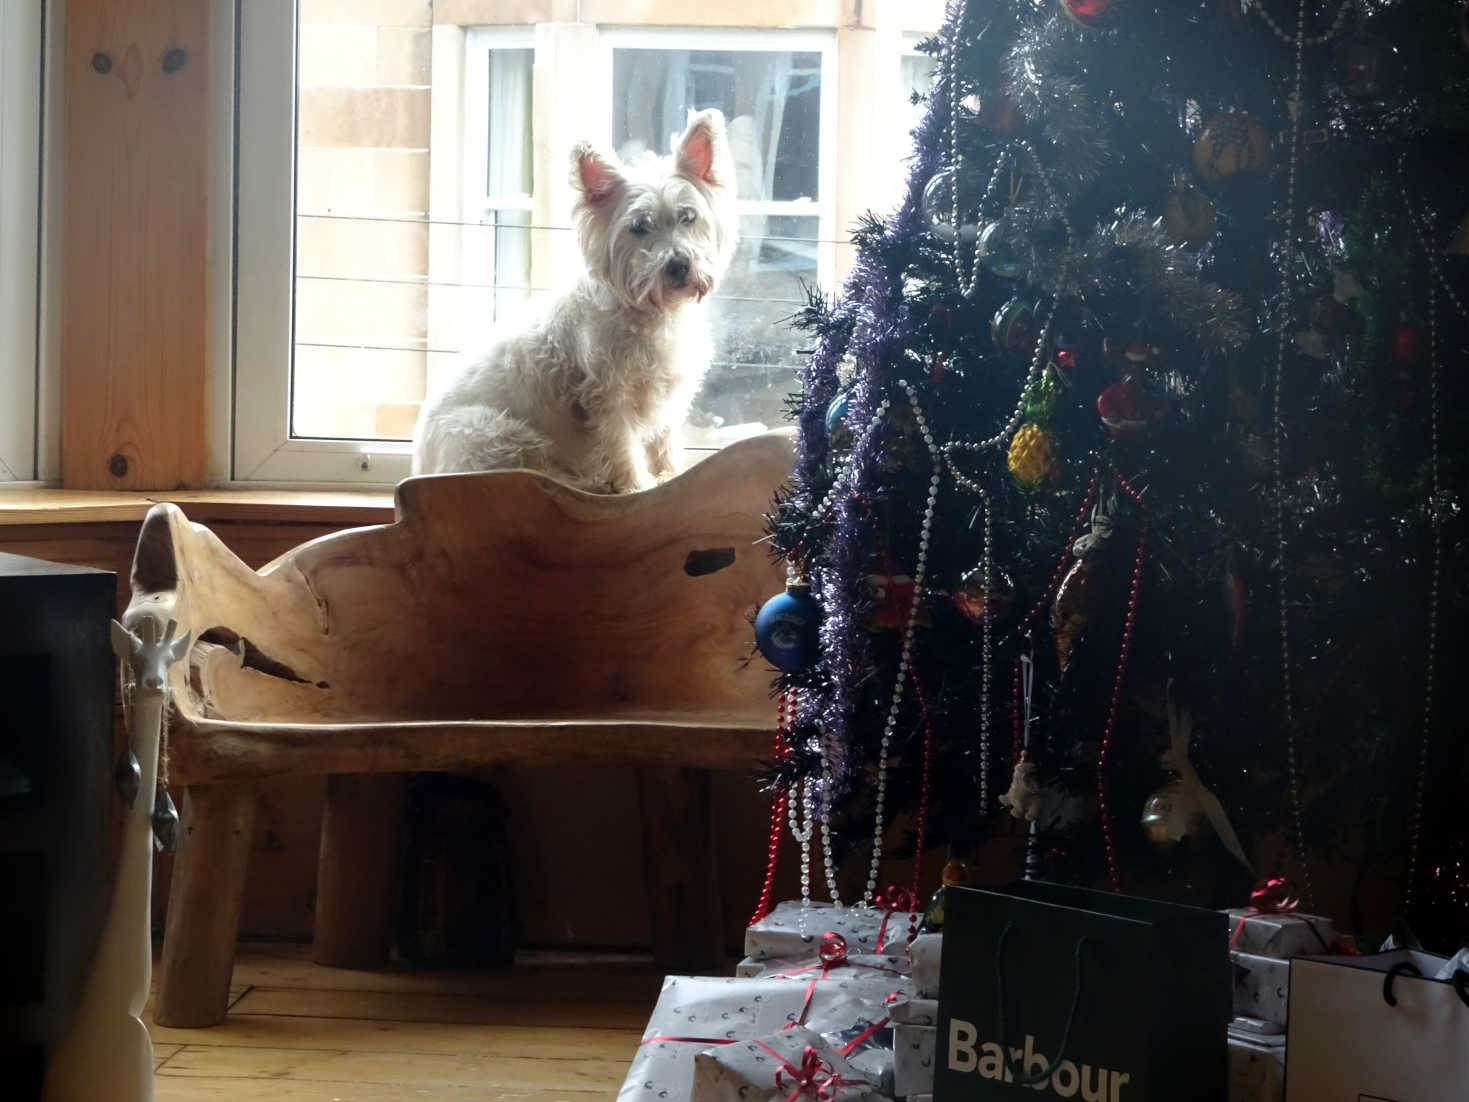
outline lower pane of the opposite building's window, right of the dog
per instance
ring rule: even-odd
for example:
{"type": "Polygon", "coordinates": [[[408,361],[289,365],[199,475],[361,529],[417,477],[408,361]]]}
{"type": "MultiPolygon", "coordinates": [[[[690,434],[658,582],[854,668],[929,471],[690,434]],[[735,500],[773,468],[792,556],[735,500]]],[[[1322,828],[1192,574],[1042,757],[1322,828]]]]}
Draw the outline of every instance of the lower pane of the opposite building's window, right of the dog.
{"type": "Polygon", "coordinates": [[[817,281],[820,219],[740,219],[740,247],[712,300],[714,363],[689,416],[689,444],[724,444],[783,423],[796,388],[790,316],[817,281]]]}

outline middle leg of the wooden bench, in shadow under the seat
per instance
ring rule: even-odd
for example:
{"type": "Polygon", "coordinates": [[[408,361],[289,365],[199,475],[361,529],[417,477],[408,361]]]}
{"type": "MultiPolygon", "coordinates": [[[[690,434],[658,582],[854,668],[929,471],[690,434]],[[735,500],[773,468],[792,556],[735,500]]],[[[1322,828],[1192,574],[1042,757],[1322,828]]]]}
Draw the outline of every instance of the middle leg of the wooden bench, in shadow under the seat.
{"type": "Polygon", "coordinates": [[[408,777],[326,779],[322,854],[316,867],[311,957],[332,968],[380,968],[392,949],[403,867],[408,777]]]}

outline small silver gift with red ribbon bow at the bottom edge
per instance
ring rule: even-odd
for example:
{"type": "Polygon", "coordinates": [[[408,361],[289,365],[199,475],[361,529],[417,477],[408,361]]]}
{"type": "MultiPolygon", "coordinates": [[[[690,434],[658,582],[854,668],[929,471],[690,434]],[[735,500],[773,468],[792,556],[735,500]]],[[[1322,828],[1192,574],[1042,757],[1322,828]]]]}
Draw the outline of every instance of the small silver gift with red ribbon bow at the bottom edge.
{"type": "Polygon", "coordinates": [[[737,1045],[699,1052],[693,1059],[690,1102],[787,1102],[802,1098],[827,1102],[886,1102],[836,1049],[805,1029],[780,1030],[737,1045]]]}

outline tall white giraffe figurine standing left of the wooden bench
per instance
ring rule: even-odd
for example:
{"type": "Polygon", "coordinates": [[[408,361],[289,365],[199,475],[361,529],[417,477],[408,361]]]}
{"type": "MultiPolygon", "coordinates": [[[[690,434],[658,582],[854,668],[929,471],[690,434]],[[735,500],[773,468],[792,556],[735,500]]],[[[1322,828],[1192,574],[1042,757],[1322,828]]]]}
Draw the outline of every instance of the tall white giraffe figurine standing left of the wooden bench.
{"type": "Polygon", "coordinates": [[[122,832],[107,924],[76,1014],[46,1068],[43,1102],[153,1101],[153,1042],[141,1015],[153,971],[150,905],[159,741],[169,666],[188,652],[190,642],[187,633],[175,639],[175,627],[169,620],[157,638],[156,620],[144,620],[140,635],[112,622],[113,654],[132,667],[137,685],[128,742],[137,758],[132,776],[138,783],[122,832]]]}

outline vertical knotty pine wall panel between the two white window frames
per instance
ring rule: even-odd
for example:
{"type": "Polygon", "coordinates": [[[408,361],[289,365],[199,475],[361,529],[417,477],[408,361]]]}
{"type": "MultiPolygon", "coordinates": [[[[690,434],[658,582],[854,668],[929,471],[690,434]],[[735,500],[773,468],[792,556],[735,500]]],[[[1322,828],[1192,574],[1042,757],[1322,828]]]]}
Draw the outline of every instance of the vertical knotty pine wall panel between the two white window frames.
{"type": "Polygon", "coordinates": [[[68,0],[62,479],[203,485],[209,0],[68,0]]]}

